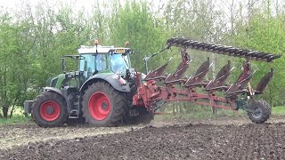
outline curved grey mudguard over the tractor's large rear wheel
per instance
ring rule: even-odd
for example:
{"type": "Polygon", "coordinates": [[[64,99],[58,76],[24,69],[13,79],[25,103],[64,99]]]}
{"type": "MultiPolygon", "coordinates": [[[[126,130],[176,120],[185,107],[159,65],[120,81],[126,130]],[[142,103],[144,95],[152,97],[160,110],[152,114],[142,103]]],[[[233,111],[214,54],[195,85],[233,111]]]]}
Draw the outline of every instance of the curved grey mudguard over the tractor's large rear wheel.
{"type": "Polygon", "coordinates": [[[88,80],[85,81],[85,83],[81,86],[80,92],[84,92],[85,89],[87,89],[88,85],[100,80],[108,82],[115,90],[119,92],[130,92],[130,87],[128,84],[126,84],[126,81],[114,73],[101,73],[90,76],[88,80]]]}

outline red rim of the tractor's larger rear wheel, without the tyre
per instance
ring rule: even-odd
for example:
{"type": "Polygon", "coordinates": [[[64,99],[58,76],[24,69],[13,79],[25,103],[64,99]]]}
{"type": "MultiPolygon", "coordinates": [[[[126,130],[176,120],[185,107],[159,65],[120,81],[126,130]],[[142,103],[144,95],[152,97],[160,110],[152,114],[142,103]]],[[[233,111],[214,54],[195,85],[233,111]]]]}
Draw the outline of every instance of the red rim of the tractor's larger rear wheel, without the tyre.
{"type": "Polygon", "coordinates": [[[110,100],[102,92],[95,92],[89,99],[90,115],[96,120],[103,120],[110,114],[110,100]]]}

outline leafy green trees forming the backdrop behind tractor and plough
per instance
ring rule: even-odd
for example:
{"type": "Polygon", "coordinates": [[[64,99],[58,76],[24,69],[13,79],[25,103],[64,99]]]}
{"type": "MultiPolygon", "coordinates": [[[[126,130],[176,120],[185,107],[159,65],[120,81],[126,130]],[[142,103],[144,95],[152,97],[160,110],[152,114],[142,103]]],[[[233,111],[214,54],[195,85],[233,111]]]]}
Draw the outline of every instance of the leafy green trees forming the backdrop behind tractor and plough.
{"type": "MultiPolygon", "coordinates": [[[[183,36],[194,40],[226,44],[263,52],[283,54],[285,47],[285,9],[278,0],[119,0],[95,1],[75,10],[72,3],[28,4],[22,0],[16,9],[0,11],[0,108],[22,107],[24,100],[34,99],[45,81],[61,73],[61,57],[77,54],[77,48],[98,38],[103,45],[123,46],[134,50],[133,67],[144,72],[143,58],[166,46],[167,38],[183,36]]],[[[215,78],[219,68],[232,60],[234,83],[240,74],[242,59],[207,52],[189,51],[193,74],[207,57],[215,62],[208,78],[215,78]]],[[[180,62],[179,50],[172,48],[149,61],[158,68],[170,57],[171,66],[180,62]]],[[[273,106],[284,104],[284,57],[273,63],[253,62],[256,84],[270,68],[274,76],[262,97],[273,106]]],[[[77,68],[73,68],[77,69],[77,68]]],[[[173,72],[168,68],[167,72],[173,72]]],[[[10,109],[9,109],[10,108],[10,109]]]]}

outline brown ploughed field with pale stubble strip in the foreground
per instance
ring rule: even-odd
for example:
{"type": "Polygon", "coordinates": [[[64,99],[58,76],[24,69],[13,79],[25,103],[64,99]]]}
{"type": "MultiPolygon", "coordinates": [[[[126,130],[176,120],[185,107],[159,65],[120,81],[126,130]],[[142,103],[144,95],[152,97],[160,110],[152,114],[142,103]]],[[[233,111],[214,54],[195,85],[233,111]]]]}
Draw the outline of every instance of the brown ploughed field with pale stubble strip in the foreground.
{"type": "Polygon", "coordinates": [[[115,128],[4,125],[0,142],[0,159],[285,159],[285,116],[265,124],[241,117],[115,128]]]}

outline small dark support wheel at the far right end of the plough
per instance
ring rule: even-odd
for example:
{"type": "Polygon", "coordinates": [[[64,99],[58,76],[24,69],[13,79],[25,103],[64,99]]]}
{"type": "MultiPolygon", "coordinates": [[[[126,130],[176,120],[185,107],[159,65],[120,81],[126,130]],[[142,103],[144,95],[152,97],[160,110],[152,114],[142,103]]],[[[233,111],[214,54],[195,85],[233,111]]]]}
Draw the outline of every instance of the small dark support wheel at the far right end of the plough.
{"type": "Polygon", "coordinates": [[[263,124],[271,115],[271,108],[265,100],[252,100],[248,103],[248,109],[254,112],[248,112],[249,119],[256,124],[263,124]]]}

